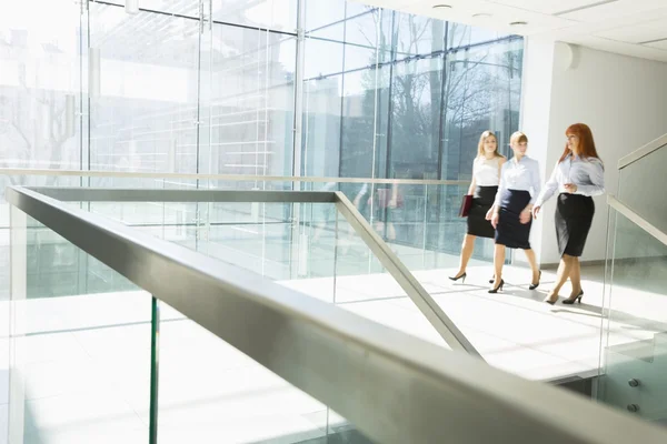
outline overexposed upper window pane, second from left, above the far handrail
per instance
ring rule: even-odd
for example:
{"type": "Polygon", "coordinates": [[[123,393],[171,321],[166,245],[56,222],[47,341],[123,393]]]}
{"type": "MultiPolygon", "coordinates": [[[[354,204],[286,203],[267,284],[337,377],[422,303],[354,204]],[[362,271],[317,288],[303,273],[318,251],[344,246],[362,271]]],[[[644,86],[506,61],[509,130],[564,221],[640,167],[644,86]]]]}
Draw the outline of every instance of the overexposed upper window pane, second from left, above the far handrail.
{"type": "Polygon", "coordinates": [[[198,20],[97,2],[89,20],[100,54],[89,168],[196,172],[198,20]]]}

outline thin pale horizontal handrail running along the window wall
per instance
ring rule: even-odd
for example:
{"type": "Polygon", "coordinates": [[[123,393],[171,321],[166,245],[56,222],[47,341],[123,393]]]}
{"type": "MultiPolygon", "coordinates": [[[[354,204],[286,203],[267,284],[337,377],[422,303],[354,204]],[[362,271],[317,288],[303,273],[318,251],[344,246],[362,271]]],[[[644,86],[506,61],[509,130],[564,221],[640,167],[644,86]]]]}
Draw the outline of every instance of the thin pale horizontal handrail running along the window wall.
{"type": "Polygon", "coordinates": [[[125,178],[125,179],[182,179],[216,180],[229,182],[313,182],[313,183],[375,183],[405,185],[468,185],[470,181],[436,179],[371,179],[371,178],[320,178],[301,175],[251,175],[251,174],[207,174],[207,173],[171,173],[139,171],[100,171],[100,170],[49,170],[0,168],[1,175],[48,175],[81,178],[125,178]]]}

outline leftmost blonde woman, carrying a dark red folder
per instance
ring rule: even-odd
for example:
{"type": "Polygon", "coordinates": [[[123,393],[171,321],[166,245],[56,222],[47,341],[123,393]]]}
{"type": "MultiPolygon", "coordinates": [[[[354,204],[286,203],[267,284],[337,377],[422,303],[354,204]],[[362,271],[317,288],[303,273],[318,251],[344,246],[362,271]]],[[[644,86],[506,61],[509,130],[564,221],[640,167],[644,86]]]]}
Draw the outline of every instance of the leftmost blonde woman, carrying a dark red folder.
{"type": "Polygon", "coordinates": [[[477,236],[494,239],[496,231],[491,223],[490,211],[500,182],[500,169],[506,159],[498,152],[498,139],[491,131],[485,131],[479,137],[477,158],[472,162],[472,182],[468,195],[474,195],[472,205],[468,213],[468,231],[464,238],[459,270],[452,281],[466,282],[466,266],[472,256],[477,236]]]}

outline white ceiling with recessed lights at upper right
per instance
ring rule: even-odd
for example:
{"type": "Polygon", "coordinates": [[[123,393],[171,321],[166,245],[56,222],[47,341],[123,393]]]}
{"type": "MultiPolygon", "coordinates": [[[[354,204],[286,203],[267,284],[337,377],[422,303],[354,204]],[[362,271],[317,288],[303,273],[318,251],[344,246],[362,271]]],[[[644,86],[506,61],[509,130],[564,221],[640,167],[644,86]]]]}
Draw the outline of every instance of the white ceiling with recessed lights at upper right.
{"type": "Polygon", "coordinates": [[[667,0],[360,0],[520,36],[667,62],[667,0]],[[434,9],[449,4],[450,9],[434,9]],[[490,17],[474,17],[490,14],[490,17]],[[525,26],[510,26],[521,21],[525,26]]]}

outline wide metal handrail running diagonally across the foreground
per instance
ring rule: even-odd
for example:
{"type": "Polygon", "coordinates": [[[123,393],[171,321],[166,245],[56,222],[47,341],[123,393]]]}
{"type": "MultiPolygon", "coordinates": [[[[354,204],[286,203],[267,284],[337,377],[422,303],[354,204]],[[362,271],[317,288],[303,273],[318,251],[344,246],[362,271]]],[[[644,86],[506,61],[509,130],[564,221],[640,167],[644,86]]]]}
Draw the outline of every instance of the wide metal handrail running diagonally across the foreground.
{"type": "Polygon", "coordinates": [[[664,428],[34,191],[12,205],[378,443],[664,443],[664,428]],[[196,294],[197,297],[191,295],[196,294]]]}

